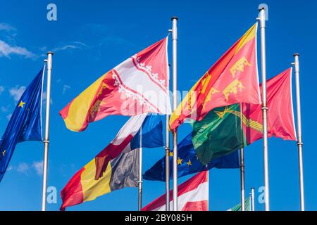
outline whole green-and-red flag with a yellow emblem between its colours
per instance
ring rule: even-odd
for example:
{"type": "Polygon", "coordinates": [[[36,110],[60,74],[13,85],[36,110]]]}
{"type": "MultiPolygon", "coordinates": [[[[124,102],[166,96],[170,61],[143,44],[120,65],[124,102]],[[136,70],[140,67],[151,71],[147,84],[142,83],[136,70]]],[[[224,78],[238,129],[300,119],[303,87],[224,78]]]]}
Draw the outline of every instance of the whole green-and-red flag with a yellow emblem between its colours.
{"type": "MultiPolygon", "coordinates": [[[[291,84],[291,68],[266,83],[269,137],[296,140],[291,84]]],[[[260,104],[229,105],[211,110],[203,120],[195,121],[192,142],[199,160],[206,165],[263,138],[261,108],[260,104]]]]}

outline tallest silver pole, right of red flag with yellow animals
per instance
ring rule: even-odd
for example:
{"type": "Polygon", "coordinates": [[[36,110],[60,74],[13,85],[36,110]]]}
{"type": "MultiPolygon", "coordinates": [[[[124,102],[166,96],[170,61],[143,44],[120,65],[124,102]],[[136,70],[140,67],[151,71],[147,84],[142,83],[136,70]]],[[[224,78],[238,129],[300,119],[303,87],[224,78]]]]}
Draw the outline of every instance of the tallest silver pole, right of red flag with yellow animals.
{"type": "Polygon", "coordinates": [[[264,7],[259,8],[259,11],[261,28],[264,200],[266,211],[270,211],[270,193],[268,184],[268,107],[266,105],[266,11],[264,7]]]}

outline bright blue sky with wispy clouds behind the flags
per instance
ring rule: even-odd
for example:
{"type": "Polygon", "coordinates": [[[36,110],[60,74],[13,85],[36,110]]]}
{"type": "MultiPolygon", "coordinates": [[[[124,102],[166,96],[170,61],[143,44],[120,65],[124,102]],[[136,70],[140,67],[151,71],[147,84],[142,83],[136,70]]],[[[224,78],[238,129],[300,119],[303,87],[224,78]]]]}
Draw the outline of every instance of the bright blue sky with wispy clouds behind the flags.
{"type": "MultiPolygon", "coordinates": [[[[0,0],[0,135],[16,98],[37,74],[46,51],[54,51],[48,186],[59,192],[73,174],[99,153],[128,117],[110,116],[75,133],[58,115],[69,101],[118,63],[168,34],[178,15],[178,89],[186,91],[256,21],[261,1],[4,1],[0,0]],[[57,21],[46,20],[46,6],[57,6],[57,21]],[[2,46],[2,47],[1,47],[2,46]]],[[[290,67],[299,52],[302,88],[306,210],[317,210],[316,1],[266,1],[267,75],[290,67]]],[[[169,43],[171,46],[171,43],[169,43]]],[[[171,56],[171,48],[169,49],[171,56]]],[[[170,58],[171,60],[171,58],[170,58]]],[[[179,139],[189,125],[180,129],[179,139]]],[[[299,210],[296,143],[268,141],[271,210],[299,210]]],[[[164,154],[144,150],[144,171],[164,154]]],[[[40,210],[43,145],[18,144],[0,184],[0,210],[40,210]]],[[[262,141],[245,149],[246,188],[263,186],[262,141]]],[[[210,210],[228,210],[240,202],[239,169],[212,169],[210,210]]],[[[185,181],[189,176],[180,179],[185,181]]],[[[144,205],[165,191],[159,181],[144,181],[144,205]]],[[[256,210],[264,205],[256,200],[256,210]]],[[[137,210],[137,188],[125,188],[69,210],[137,210]]]]}

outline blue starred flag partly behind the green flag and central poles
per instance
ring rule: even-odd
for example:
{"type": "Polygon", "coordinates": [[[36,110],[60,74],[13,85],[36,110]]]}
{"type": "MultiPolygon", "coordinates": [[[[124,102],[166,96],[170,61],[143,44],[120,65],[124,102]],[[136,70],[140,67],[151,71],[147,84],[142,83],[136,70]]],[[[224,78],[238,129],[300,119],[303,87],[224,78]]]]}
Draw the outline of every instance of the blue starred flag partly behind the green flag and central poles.
{"type": "MultiPolygon", "coordinates": [[[[240,168],[237,150],[228,155],[211,160],[207,165],[202,165],[192,143],[192,133],[178,143],[178,177],[194,174],[213,167],[218,169],[240,168]]],[[[150,181],[165,181],[165,157],[161,158],[153,167],[148,169],[143,178],[150,181]]],[[[173,178],[173,152],[170,152],[170,179],[173,178]]]]}

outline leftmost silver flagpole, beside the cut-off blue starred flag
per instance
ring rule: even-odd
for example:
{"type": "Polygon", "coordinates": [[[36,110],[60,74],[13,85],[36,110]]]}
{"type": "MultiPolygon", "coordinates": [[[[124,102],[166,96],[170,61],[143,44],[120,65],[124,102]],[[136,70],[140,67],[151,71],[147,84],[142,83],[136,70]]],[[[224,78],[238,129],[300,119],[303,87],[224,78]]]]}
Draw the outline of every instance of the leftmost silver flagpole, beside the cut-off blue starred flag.
{"type": "Polygon", "coordinates": [[[47,164],[49,156],[49,108],[51,105],[51,63],[53,52],[47,53],[47,86],[46,86],[46,112],[45,112],[45,139],[44,139],[44,162],[43,162],[43,188],[42,188],[42,211],[46,210],[46,185],[47,164]]]}

